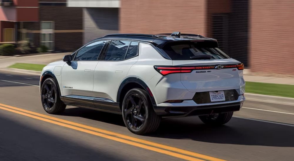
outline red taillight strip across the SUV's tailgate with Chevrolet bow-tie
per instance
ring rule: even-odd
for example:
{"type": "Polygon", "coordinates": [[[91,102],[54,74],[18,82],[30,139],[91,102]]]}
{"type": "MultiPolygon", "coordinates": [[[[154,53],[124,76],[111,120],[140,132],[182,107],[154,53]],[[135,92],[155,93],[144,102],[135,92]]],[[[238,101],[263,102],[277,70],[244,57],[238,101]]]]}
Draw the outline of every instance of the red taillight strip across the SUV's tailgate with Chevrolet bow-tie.
{"type": "Polygon", "coordinates": [[[215,68],[219,65],[210,65],[210,66],[197,66],[197,67],[178,67],[178,66],[154,66],[154,69],[157,70],[161,75],[166,76],[167,74],[172,73],[191,73],[193,70],[206,70],[206,69],[224,69],[224,68],[237,68],[238,70],[244,69],[244,64],[234,64],[234,65],[223,65],[222,68],[215,68]]]}

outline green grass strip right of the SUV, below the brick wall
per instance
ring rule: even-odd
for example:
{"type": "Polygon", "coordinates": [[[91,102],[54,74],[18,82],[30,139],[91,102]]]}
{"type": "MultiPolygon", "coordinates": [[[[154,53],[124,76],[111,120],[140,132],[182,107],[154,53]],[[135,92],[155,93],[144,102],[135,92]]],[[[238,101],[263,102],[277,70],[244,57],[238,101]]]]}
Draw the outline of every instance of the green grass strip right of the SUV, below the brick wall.
{"type": "Polygon", "coordinates": [[[246,82],[246,92],[294,98],[294,85],[246,82]]]}

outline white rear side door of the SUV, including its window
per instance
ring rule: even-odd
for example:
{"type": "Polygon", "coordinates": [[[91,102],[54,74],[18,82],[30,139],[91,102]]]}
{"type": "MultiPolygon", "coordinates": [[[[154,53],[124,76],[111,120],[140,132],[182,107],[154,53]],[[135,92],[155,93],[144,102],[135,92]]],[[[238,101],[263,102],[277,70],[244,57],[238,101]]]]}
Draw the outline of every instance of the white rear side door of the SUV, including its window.
{"type": "MultiPolygon", "coordinates": [[[[116,102],[118,87],[131,66],[138,61],[139,42],[112,40],[94,72],[94,88],[98,97],[116,102]]],[[[95,102],[95,101],[94,101],[95,102]]],[[[116,111],[111,106],[108,110],[116,111]]]]}

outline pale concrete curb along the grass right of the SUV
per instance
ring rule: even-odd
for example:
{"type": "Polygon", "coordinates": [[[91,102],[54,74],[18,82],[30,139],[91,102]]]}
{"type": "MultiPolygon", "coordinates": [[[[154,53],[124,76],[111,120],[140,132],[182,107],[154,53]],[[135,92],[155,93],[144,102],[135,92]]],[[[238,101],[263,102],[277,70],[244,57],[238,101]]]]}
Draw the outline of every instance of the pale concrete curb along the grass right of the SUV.
{"type": "Polygon", "coordinates": [[[294,98],[280,97],[280,96],[269,96],[263,94],[245,93],[244,96],[248,101],[258,101],[272,104],[283,104],[294,106],[294,98]]]}

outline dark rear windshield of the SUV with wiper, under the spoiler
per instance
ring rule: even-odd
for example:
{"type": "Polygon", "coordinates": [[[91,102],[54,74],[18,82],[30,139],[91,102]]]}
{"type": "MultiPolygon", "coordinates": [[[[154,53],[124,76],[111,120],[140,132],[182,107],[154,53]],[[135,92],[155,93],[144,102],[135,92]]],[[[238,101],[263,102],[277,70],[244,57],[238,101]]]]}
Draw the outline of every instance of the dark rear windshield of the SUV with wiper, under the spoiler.
{"type": "Polygon", "coordinates": [[[161,48],[172,60],[193,60],[195,57],[210,55],[210,59],[228,59],[216,42],[171,42],[161,48]]]}

